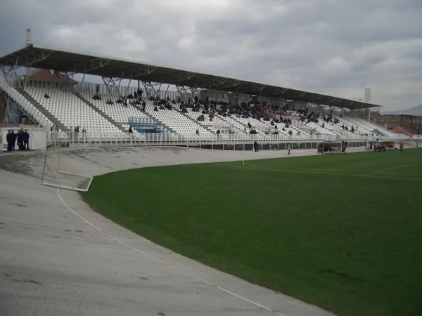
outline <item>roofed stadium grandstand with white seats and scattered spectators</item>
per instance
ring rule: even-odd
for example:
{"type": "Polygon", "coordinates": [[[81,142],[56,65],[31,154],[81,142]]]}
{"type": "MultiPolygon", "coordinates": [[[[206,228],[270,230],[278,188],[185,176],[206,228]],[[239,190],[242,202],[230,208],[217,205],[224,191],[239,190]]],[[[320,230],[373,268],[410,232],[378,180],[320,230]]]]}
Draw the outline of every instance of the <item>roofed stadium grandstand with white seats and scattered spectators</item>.
{"type": "Polygon", "coordinates": [[[32,44],[0,66],[3,123],[35,124],[50,142],[316,147],[327,135],[356,145],[399,138],[371,122],[380,105],[360,100],[32,44]]]}

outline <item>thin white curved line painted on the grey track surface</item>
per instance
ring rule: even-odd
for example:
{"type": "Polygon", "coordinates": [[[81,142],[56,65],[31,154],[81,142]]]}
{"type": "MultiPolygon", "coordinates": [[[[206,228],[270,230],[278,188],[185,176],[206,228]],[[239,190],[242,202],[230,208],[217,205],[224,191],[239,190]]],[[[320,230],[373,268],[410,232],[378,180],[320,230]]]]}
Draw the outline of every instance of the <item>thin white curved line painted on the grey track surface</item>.
{"type": "MultiPolygon", "coordinates": [[[[77,217],[79,217],[79,218],[81,218],[82,220],[84,220],[84,222],[85,222],[85,223],[88,223],[88,224],[89,224],[89,225],[91,225],[92,227],[96,228],[96,230],[99,230],[100,232],[102,232],[102,231],[103,231],[103,230],[101,230],[100,228],[96,227],[96,225],[94,225],[93,223],[89,222],[89,220],[86,220],[85,218],[83,218],[82,216],[80,216],[77,212],[73,211],[73,210],[72,210],[72,209],[68,206],[68,204],[66,204],[66,203],[65,203],[65,201],[63,201],[63,198],[60,196],[60,192],[59,192],[59,190],[58,190],[58,189],[57,189],[57,195],[58,195],[58,198],[60,199],[60,201],[63,203],[63,205],[64,205],[64,206],[66,206],[66,208],[67,208],[69,211],[71,211],[71,212],[72,212],[72,213],[74,213],[77,217]]],[[[118,238],[116,238],[116,237],[113,237],[112,235],[109,235],[109,234],[108,234],[108,233],[106,233],[106,232],[104,232],[104,234],[106,234],[108,237],[110,237],[111,239],[115,240],[116,242],[119,242],[120,244],[122,244],[122,245],[124,245],[124,246],[127,246],[129,249],[132,249],[132,250],[134,250],[134,251],[138,252],[139,254],[143,254],[143,256],[146,256],[146,257],[148,257],[148,258],[151,258],[151,259],[153,259],[154,261],[158,261],[159,263],[162,263],[163,265],[167,265],[167,267],[169,267],[169,268],[172,268],[172,269],[174,269],[174,270],[177,270],[177,271],[179,271],[179,272],[184,273],[185,275],[188,275],[188,276],[190,276],[190,277],[193,277],[194,279],[197,279],[197,280],[198,280],[198,281],[200,281],[200,282],[203,282],[203,283],[205,283],[205,284],[208,284],[210,287],[214,287],[215,289],[219,289],[220,291],[223,291],[223,292],[225,292],[225,293],[227,293],[227,294],[230,294],[231,296],[234,296],[234,297],[236,297],[236,298],[240,298],[241,300],[246,301],[246,302],[248,302],[248,303],[251,303],[251,304],[253,304],[253,305],[255,305],[255,306],[259,307],[259,308],[262,308],[262,309],[267,310],[267,311],[269,311],[269,312],[273,312],[273,313],[274,313],[274,314],[276,314],[276,315],[279,315],[279,316],[286,316],[286,315],[284,315],[284,314],[281,314],[281,312],[275,312],[274,310],[271,310],[271,308],[267,308],[267,306],[261,305],[260,303],[256,303],[256,302],[254,302],[254,301],[250,301],[248,298],[245,298],[245,297],[243,297],[243,296],[240,296],[240,295],[238,295],[238,294],[235,294],[235,293],[233,293],[233,292],[231,292],[231,291],[229,291],[229,290],[226,290],[226,289],[224,289],[224,288],[222,288],[222,287],[218,287],[218,286],[217,286],[217,285],[215,285],[215,284],[212,284],[212,283],[210,283],[210,282],[208,282],[208,281],[205,281],[205,279],[202,279],[202,278],[200,278],[200,277],[197,277],[196,275],[193,275],[193,274],[191,274],[191,273],[189,273],[189,272],[186,272],[186,271],[184,271],[184,270],[181,270],[181,269],[179,269],[179,268],[175,267],[174,265],[171,265],[170,263],[166,263],[165,261],[162,261],[162,260],[160,260],[160,259],[158,259],[158,258],[156,258],[156,257],[154,257],[154,256],[151,256],[150,254],[147,254],[145,251],[142,251],[142,250],[140,250],[140,249],[137,249],[137,248],[135,248],[134,246],[131,246],[131,245],[127,244],[126,242],[123,242],[122,240],[120,240],[120,239],[118,239],[118,238]]]]}

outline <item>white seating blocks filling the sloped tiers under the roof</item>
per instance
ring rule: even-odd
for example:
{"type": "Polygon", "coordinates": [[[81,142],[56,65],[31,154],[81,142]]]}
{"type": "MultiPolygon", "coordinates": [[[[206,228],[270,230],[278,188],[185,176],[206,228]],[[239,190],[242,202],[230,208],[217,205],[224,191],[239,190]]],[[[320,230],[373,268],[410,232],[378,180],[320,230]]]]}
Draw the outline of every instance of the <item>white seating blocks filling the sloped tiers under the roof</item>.
{"type": "MultiPolygon", "coordinates": [[[[53,123],[44,116],[34,105],[26,100],[18,91],[9,86],[4,74],[0,72],[0,88],[12,96],[12,98],[18,103],[20,107],[25,110],[30,116],[37,121],[41,126],[49,128],[53,123]]],[[[32,96],[38,103],[40,103],[47,111],[49,111],[54,117],[61,121],[69,129],[75,126],[80,126],[80,129],[85,129],[88,132],[94,133],[115,133],[116,135],[123,134],[117,126],[110,122],[106,117],[103,117],[99,112],[106,114],[115,121],[118,125],[129,129],[129,118],[139,117],[148,118],[152,117],[157,120],[163,126],[167,126],[174,133],[179,135],[193,135],[196,131],[199,131],[201,136],[214,136],[217,132],[218,126],[228,127],[234,133],[248,133],[247,125],[250,122],[252,126],[257,130],[258,134],[264,135],[265,132],[274,132],[274,126],[271,126],[269,121],[258,121],[252,118],[242,118],[231,115],[230,117],[219,116],[215,114],[215,117],[210,121],[208,115],[205,116],[205,121],[197,121],[201,112],[193,112],[191,109],[187,109],[186,113],[179,110],[179,104],[173,105],[173,110],[155,110],[153,101],[146,101],[145,112],[137,109],[133,105],[124,105],[114,103],[110,105],[106,103],[108,96],[101,95],[101,100],[94,99],[94,95],[91,93],[80,93],[82,98],[86,99],[91,105],[84,102],[84,100],[78,98],[75,93],[71,91],[63,91],[54,88],[34,88],[28,87],[25,89],[27,93],[32,96]],[[45,94],[49,98],[45,98],[45,94]],[[96,108],[92,108],[92,105],[96,108]]],[[[115,100],[114,100],[115,101],[115,100]]],[[[291,112],[290,114],[300,116],[297,112],[291,112]]],[[[328,115],[328,113],[326,113],[328,115]]],[[[374,129],[380,130],[387,137],[398,137],[396,133],[383,129],[381,126],[373,124],[371,121],[359,119],[357,117],[343,116],[340,114],[333,113],[333,118],[338,119],[338,123],[328,123],[323,119],[319,119],[317,123],[307,123],[305,126],[309,129],[315,129],[321,134],[331,134],[345,136],[342,125],[347,126],[349,131],[351,127],[354,127],[354,133],[347,133],[347,138],[360,137],[368,135],[373,132],[374,129]],[[324,124],[324,127],[322,127],[324,124]]],[[[283,131],[283,124],[277,124],[280,136],[288,137],[288,132],[291,130],[293,135],[297,135],[300,131],[304,138],[309,137],[309,133],[302,131],[298,126],[300,121],[293,121],[293,124],[289,126],[286,131],[283,131]]],[[[136,131],[135,131],[136,133],[136,131]]],[[[224,136],[222,136],[224,137],[224,136]]]]}

